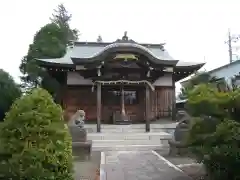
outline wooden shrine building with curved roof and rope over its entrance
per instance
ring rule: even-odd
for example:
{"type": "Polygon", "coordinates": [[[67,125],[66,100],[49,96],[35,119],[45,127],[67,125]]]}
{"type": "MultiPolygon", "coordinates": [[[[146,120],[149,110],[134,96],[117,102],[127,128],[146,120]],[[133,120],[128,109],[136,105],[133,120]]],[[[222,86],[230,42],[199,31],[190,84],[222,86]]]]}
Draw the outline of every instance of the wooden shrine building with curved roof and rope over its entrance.
{"type": "Polygon", "coordinates": [[[173,59],[164,44],[139,44],[125,33],[115,42],[73,42],[57,59],[38,59],[61,84],[67,119],[78,110],[86,123],[145,123],[175,119],[175,82],[204,63],[173,59]]]}

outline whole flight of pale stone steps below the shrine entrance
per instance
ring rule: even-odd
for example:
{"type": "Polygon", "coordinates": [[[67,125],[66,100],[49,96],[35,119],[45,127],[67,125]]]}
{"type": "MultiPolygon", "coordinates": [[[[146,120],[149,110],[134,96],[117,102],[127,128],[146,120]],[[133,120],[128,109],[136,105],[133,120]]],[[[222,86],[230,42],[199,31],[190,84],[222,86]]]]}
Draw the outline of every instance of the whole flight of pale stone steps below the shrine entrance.
{"type": "Polygon", "coordinates": [[[168,140],[176,123],[151,124],[151,132],[145,132],[145,124],[101,125],[101,133],[96,133],[96,125],[85,125],[87,139],[92,141],[93,151],[161,150],[168,148],[168,140]]]}

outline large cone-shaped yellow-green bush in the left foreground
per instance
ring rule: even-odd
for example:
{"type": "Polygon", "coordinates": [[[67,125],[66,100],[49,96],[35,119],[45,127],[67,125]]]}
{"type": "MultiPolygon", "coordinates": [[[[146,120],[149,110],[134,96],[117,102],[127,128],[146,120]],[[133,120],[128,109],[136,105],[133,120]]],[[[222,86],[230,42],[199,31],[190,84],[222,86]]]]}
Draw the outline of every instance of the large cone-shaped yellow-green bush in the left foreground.
{"type": "Polygon", "coordinates": [[[16,100],[0,131],[0,178],[72,180],[72,145],[62,109],[47,91],[16,100]]]}

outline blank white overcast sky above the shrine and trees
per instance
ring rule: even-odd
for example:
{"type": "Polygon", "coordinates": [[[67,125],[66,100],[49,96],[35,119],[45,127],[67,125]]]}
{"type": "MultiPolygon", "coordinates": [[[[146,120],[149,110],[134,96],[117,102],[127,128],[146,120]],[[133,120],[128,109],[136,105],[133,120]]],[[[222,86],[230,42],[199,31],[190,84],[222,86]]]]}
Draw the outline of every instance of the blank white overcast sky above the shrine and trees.
{"type": "Polygon", "coordinates": [[[72,13],[71,26],[81,32],[80,41],[95,41],[99,34],[115,41],[128,31],[140,43],[166,42],[175,59],[205,61],[206,70],[229,62],[228,28],[240,33],[238,0],[3,0],[0,68],[17,81],[33,35],[59,3],[72,13]]]}

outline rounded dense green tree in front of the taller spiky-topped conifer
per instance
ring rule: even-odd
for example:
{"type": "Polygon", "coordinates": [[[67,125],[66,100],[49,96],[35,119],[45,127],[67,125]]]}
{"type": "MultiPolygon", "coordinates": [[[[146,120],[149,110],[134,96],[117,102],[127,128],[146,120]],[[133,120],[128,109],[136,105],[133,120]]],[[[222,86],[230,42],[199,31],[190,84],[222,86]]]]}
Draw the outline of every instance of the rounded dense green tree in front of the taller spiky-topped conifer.
{"type": "MultiPolygon", "coordinates": [[[[23,57],[20,65],[20,70],[24,74],[21,77],[24,82],[22,84],[23,87],[40,86],[42,80],[46,78],[55,81],[37,65],[36,58],[60,58],[65,54],[65,49],[64,32],[60,27],[54,23],[42,27],[34,36],[33,43],[29,46],[28,54],[23,57]]],[[[53,89],[50,86],[44,88],[47,90],[53,89]]]]}

